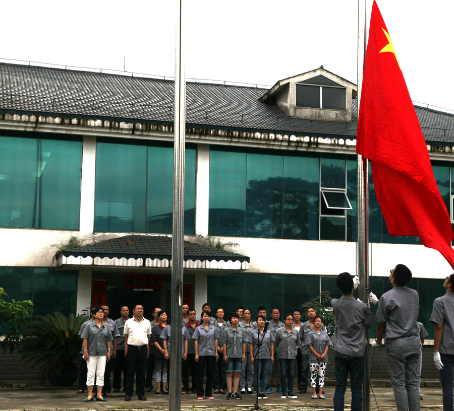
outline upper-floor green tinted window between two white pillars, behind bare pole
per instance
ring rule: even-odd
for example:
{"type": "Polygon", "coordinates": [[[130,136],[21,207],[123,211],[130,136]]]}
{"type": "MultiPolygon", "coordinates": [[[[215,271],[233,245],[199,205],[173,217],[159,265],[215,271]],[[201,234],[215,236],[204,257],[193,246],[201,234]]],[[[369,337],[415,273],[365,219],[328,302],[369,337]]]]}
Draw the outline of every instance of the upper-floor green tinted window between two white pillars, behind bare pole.
{"type": "MultiPolygon", "coordinates": [[[[194,234],[195,149],[185,152],[185,234],[194,234]]],[[[172,233],[172,147],[97,143],[94,231],[172,233]]]]}

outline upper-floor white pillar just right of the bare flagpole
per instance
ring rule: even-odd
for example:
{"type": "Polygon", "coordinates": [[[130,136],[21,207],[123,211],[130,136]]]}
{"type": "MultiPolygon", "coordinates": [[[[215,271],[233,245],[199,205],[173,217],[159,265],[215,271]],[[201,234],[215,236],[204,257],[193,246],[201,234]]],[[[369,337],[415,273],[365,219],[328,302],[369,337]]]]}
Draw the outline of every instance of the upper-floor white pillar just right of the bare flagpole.
{"type": "MultiPolygon", "coordinates": [[[[197,173],[196,173],[195,233],[203,236],[206,236],[208,234],[209,187],[210,187],[210,146],[208,146],[207,144],[198,144],[197,173]]],[[[200,310],[199,307],[197,307],[196,309],[200,310]]]]}

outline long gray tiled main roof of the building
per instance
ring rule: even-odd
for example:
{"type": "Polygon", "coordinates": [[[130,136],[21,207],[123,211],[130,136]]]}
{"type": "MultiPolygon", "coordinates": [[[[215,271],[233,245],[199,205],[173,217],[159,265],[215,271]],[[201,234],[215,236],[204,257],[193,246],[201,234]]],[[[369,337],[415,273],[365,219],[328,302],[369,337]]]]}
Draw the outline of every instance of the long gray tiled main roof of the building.
{"type": "MultiPolygon", "coordinates": [[[[174,82],[0,63],[0,112],[173,124],[174,82]]],[[[355,138],[352,121],[292,118],[259,101],[264,89],[187,83],[186,122],[223,130],[355,138]]],[[[416,107],[426,141],[454,142],[454,116],[416,107]]]]}

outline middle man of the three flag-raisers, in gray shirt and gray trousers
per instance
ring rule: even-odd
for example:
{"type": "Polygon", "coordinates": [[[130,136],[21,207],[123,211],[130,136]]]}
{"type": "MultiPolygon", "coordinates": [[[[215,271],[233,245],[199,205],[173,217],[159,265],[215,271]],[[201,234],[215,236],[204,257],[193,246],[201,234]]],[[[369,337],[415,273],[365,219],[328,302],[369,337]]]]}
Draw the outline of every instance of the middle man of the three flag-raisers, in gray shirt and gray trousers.
{"type": "Polygon", "coordinates": [[[416,320],[419,296],[407,287],[412,272],[404,264],[396,265],[389,273],[392,290],[384,293],[378,302],[377,339],[372,347],[383,344],[386,330],[386,364],[391,379],[398,411],[419,411],[418,362],[421,340],[416,320]]]}

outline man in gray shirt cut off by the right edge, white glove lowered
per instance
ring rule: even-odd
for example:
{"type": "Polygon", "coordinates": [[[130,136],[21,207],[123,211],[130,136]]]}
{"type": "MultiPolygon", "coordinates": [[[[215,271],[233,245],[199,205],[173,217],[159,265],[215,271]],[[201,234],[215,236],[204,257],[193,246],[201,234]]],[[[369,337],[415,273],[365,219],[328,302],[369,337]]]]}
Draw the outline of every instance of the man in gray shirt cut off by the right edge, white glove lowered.
{"type": "Polygon", "coordinates": [[[433,361],[440,372],[443,389],[443,411],[452,411],[452,370],[454,368],[454,274],[444,279],[446,293],[433,302],[430,322],[435,324],[433,361]]]}

